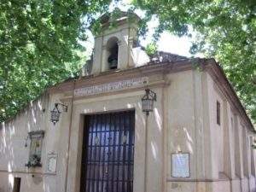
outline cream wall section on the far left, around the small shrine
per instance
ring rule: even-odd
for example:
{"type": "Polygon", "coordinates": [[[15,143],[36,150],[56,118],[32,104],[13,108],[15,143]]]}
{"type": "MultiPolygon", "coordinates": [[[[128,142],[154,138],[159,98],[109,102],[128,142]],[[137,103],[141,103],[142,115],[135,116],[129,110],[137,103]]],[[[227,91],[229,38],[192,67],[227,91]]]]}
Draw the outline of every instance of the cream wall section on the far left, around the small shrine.
{"type": "MultiPolygon", "coordinates": [[[[12,191],[14,177],[21,177],[21,192],[54,192],[64,186],[66,141],[61,143],[61,129],[49,122],[49,110],[53,107],[52,98],[47,94],[24,109],[14,119],[6,122],[0,129],[0,191],[12,191]],[[45,112],[44,112],[45,109],[45,112]],[[30,140],[25,147],[29,131],[44,130],[42,148],[42,167],[28,169],[30,140]],[[46,169],[47,154],[58,154],[57,174],[49,174],[46,169]]],[[[53,100],[55,102],[55,100],[53,100]]]]}

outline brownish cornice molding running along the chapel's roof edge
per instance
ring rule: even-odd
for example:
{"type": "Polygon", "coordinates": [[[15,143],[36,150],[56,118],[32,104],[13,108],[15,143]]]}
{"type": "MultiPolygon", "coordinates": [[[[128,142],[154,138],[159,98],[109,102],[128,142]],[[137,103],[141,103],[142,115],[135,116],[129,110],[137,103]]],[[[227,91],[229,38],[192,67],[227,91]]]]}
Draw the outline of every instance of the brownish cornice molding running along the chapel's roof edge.
{"type": "Polygon", "coordinates": [[[196,67],[200,67],[202,71],[206,71],[211,75],[213,81],[218,85],[218,88],[223,92],[224,96],[230,102],[230,107],[236,109],[235,113],[240,114],[243,123],[247,125],[247,127],[250,127],[251,131],[256,132],[253,127],[253,123],[247,116],[247,113],[243,108],[238,96],[236,95],[235,90],[231,86],[229,80],[226,78],[223,69],[214,59],[196,58],[184,61],[148,63],[148,65],[141,67],[108,71],[97,75],[86,76],[81,79],[72,79],[48,88],[48,92],[49,94],[72,92],[74,89],[73,81],[76,81],[75,89],[78,89],[84,86],[102,84],[102,82],[110,83],[113,81],[131,79],[141,76],[150,77],[155,74],[178,73],[194,70],[196,67]]]}

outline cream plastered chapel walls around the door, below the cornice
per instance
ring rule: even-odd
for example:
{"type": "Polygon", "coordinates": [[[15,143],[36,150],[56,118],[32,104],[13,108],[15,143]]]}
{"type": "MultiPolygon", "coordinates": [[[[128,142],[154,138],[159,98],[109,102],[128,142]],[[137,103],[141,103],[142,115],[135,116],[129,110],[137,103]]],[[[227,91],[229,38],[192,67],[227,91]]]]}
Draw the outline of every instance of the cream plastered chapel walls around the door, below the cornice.
{"type": "MultiPolygon", "coordinates": [[[[242,120],[233,114],[234,111],[231,112],[229,105],[224,105],[226,98],[217,89],[211,76],[206,72],[193,70],[166,76],[154,74],[150,76],[149,82],[163,79],[170,84],[150,88],[157,93],[157,102],[154,103],[154,113],[150,113],[148,117],[148,192],[229,192],[231,188],[237,192],[240,189],[250,189],[253,192],[254,176],[247,174],[247,177],[243,177],[243,166],[246,165],[243,160],[246,157],[240,153],[241,150],[237,150],[243,148],[242,132],[245,132],[245,128],[241,127],[242,120]],[[229,112],[225,114],[226,118],[221,117],[221,127],[216,123],[217,99],[221,106],[227,106],[226,111],[229,112]],[[233,166],[224,164],[228,157],[224,156],[224,142],[227,139],[224,129],[231,125],[230,121],[224,123],[224,120],[231,116],[235,119],[235,127],[230,129],[230,136],[235,137],[230,139],[230,143],[235,145],[230,145],[235,151],[235,154],[230,153],[233,166]],[[180,151],[190,154],[191,175],[179,180],[172,177],[172,153],[180,151]],[[232,172],[236,171],[242,180],[234,177],[230,182],[226,178],[230,173],[226,172],[225,166],[230,166],[232,172]],[[235,166],[238,167],[236,170],[235,166]],[[224,173],[225,177],[219,173],[224,173]]],[[[83,115],[130,108],[134,108],[136,112],[134,192],[143,191],[146,127],[141,98],[144,90],[119,91],[108,96],[75,100],[72,116],[72,102],[66,97],[68,94],[65,94],[67,93],[43,96],[15,119],[3,125],[0,130],[0,191],[10,192],[13,178],[21,177],[21,192],[64,192],[67,170],[67,191],[79,192],[83,115]],[[60,122],[54,126],[49,122],[49,110],[60,100],[68,106],[68,111],[61,113],[60,122]],[[67,163],[70,119],[72,122],[67,163]],[[25,138],[28,131],[35,130],[45,131],[43,167],[28,170],[25,164],[29,148],[24,147],[25,138]],[[46,172],[47,154],[51,152],[58,154],[57,172],[54,175],[46,172]]],[[[224,111],[222,109],[221,113],[224,114],[224,111]]],[[[246,131],[244,134],[248,137],[250,132],[246,131]]],[[[250,154],[247,158],[255,160],[255,153],[250,154]]],[[[250,165],[249,161],[247,165],[250,165]]]]}

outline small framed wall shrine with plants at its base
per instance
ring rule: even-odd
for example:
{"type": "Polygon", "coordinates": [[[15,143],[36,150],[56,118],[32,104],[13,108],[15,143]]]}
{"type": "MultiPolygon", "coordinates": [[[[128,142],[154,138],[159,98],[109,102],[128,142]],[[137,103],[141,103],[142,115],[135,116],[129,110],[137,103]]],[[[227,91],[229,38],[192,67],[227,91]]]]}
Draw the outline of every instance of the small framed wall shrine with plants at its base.
{"type": "Polygon", "coordinates": [[[28,135],[31,142],[30,142],[29,159],[26,166],[27,167],[42,166],[41,153],[42,153],[44,131],[31,131],[28,133],[28,135]]]}

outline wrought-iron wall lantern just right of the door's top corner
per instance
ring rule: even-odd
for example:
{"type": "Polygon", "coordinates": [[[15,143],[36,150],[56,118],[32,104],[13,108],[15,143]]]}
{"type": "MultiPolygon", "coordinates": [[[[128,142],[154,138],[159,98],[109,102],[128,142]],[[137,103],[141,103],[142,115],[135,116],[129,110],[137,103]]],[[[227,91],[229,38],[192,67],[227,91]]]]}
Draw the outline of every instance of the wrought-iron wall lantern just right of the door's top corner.
{"type": "Polygon", "coordinates": [[[153,111],[153,105],[156,101],[156,93],[152,90],[146,89],[146,94],[142,98],[143,102],[143,112],[145,112],[147,115],[149,112],[153,111]]]}

